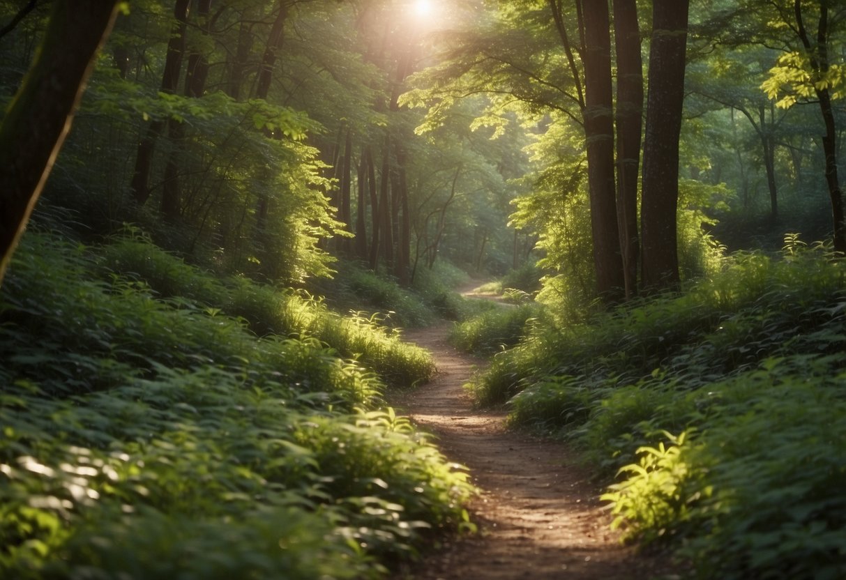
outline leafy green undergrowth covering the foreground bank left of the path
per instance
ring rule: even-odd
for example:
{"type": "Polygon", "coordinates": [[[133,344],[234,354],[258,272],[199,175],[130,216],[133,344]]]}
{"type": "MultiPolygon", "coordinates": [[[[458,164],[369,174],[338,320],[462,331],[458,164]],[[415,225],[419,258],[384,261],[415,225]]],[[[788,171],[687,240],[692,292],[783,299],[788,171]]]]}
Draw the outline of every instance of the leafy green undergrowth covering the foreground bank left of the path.
{"type": "Polygon", "coordinates": [[[373,371],[103,265],[30,233],[3,285],[0,577],[382,577],[464,525],[373,371]]]}

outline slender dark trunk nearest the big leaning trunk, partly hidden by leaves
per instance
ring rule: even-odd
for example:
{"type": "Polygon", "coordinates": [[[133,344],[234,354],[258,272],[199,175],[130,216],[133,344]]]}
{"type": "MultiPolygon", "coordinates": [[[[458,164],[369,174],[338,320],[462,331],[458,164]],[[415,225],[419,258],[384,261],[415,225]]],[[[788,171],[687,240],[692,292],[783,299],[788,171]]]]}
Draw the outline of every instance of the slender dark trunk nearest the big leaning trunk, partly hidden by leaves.
{"type": "MultiPolygon", "coordinates": [[[[164,62],[164,73],[162,73],[163,93],[173,94],[179,86],[179,72],[182,69],[182,58],[185,49],[185,30],[188,22],[188,10],[190,0],[176,0],[173,7],[173,18],[176,22],[170,31],[168,41],[168,53],[164,62]]],[[[165,123],[163,121],[152,121],[147,125],[144,138],[138,144],[138,151],[135,155],[135,172],[132,174],[132,181],[129,183],[129,190],[138,205],[144,205],[150,197],[150,170],[153,163],[153,154],[156,151],[156,142],[165,123]]]]}

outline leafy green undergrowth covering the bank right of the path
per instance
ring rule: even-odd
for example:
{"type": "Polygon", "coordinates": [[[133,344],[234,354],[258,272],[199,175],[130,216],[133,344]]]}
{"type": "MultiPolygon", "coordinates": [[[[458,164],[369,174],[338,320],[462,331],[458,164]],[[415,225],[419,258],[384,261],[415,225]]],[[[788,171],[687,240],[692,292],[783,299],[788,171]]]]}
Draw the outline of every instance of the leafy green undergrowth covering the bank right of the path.
{"type": "Polygon", "coordinates": [[[844,316],[843,263],[791,237],[683,294],[536,325],[475,394],[617,473],[615,525],[699,577],[843,577],[844,316]]]}

